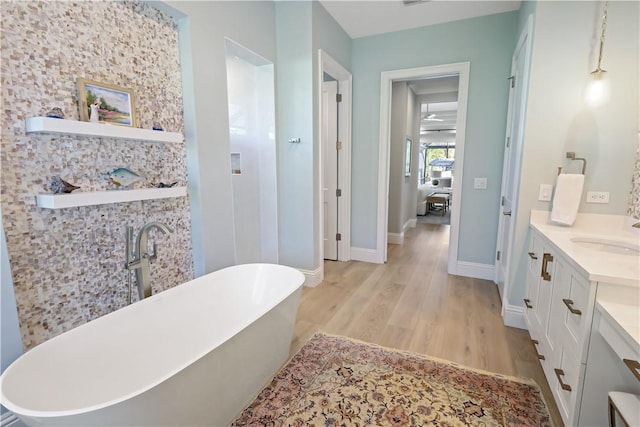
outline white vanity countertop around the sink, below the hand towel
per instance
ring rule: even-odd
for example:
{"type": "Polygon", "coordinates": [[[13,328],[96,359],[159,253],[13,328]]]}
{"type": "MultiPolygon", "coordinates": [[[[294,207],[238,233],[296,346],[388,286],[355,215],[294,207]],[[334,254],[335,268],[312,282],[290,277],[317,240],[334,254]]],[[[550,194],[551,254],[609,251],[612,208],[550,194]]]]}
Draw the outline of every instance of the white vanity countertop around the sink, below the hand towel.
{"type": "Polygon", "coordinates": [[[553,224],[550,212],[531,211],[530,224],[572,261],[573,266],[594,282],[640,287],[640,255],[616,250],[597,250],[573,242],[575,237],[640,243],[640,230],[623,215],[578,214],[573,226],[553,224]]]}

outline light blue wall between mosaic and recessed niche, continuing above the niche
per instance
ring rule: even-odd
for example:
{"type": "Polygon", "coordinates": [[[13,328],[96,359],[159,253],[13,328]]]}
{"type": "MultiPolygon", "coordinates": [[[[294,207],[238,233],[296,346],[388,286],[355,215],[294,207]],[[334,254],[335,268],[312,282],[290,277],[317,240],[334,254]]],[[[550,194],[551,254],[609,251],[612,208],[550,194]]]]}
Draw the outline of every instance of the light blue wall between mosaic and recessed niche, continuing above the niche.
{"type": "Polygon", "coordinates": [[[276,60],[265,1],[154,4],[178,20],[195,276],[235,263],[225,37],[276,60]]]}

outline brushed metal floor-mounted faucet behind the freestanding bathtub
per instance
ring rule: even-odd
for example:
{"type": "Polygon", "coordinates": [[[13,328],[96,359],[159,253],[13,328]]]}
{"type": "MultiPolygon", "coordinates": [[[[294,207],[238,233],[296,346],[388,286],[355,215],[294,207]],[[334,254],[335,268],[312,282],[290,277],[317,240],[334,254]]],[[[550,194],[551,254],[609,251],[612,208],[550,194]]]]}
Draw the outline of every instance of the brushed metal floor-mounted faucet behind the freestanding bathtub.
{"type": "MultiPolygon", "coordinates": [[[[158,257],[157,246],[153,244],[153,252],[148,253],[148,238],[149,231],[152,228],[157,228],[164,234],[173,233],[169,227],[161,222],[149,222],[145,224],[138,233],[136,238],[136,245],[131,256],[131,248],[133,246],[133,227],[127,226],[126,235],[126,262],[125,268],[127,270],[135,270],[136,283],[138,285],[138,295],[140,299],[151,296],[151,270],[149,266],[158,257]]],[[[131,303],[131,287],[129,287],[129,303],[131,303]]]]}

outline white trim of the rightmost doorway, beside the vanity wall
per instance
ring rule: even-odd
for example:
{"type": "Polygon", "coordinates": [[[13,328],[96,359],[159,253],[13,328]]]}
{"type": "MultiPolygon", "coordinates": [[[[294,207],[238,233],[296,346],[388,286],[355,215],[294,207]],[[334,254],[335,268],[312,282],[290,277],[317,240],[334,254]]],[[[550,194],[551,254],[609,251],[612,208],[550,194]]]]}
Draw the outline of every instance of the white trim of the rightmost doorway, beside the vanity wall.
{"type": "MultiPolygon", "coordinates": [[[[517,135],[513,135],[513,140],[511,141],[511,149],[512,150],[516,150],[516,154],[515,154],[515,164],[513,165],[513,176],[516,180],[516,182],[514,182],[513,188],[514,188],[514,196],[513,196],[513,200],[511,201],[511,205],[512,205],[512,214],[511,214],[511,222],[509,224],[509,236],[507,237],[509,239],[509,250],[511,251],[510,254],[508,254],[509,257],[509,265],[507,266],[508,270],[506,272],[506,275],[504,277],[504,291],[503,294],[504,296],[502,297],[502,317],[505,319],[505,322],[508,320],[508,315],[509,314],[513,314],[514,310],[511,308],[512,306],[509,303],[509,295],[510,295],[510,290],[511,290],[511,285],[512,285],[512,280],[511,280],[511,266],[513,265],[514,259],[513,259],[513,253],[514,253],[514,248],[513,248],[513,241],[514,241],[514,236],[515,236],[515,229],[516,229],[516,223],[518,222],[518,211],[517,211],[517,207],[518,207],[518,196],[520,194],[520,171],[522,169],[522,147],[524,144],[524,130],[525,130],[525,126],[524,124],[526,123],[526,115],[527,115],[527,93],[529,90],[529,77],[531,74],[531,52],[532,52],[532,44],[533,44],[533,15],[529,15],[529,18],[527,20],[527,25],[525,27],[525,29],[522,31],[522,34],[520,35],[520,38],[518,39],[518,43],[516,44],[516,48],[514,50],[514,58],[515,58],[515,54],[518,52],[518,50],[524,48],[525,49],[525,53],[524,53],[524,72],[522,74],[522,96],[520,97],[520,115],[517,117],[517,120],[520,121],[521,126],[518,129],[518,134],[517,135]],[[524,47],[522,46],[524,43],[524,47]]],[[[509,123],[509,126],[511,125],[511,123],[509,123]]],[[[527,212],[527,215],[529,213],[527,212]]],[[[500,236],[500,226],[498,227],[498,236],[496,242],[499,244],[500,243],[500,239],[502,236],[500,236]]],[[[496,261],[497,262],[497,261],[496,261]]],[[[498,268],[496,265],[496,275],[498,274],[498,268]]],[[[494,280],[497,281],[498,277],[495,277],[494,280]]],[[[521,324],[522,322],[520,322],[521,324]]],[[[512,326],[511,324],[509,324],[509,326],[512,326]]],[[[520,327],[520,326],[516,326],[516,327],[520,327]]]]}

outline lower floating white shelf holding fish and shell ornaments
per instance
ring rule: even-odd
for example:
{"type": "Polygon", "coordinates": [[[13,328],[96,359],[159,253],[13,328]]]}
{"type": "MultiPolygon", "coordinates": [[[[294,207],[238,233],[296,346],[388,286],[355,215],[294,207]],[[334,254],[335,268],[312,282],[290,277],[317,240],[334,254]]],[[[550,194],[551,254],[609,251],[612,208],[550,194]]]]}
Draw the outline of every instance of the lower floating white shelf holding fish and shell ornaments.
{"type": "Polygon", "coordinates": [[[73,208],[76,206],[106,205],[109,203],[135,202],[138,200],[184,197],[187,187],[143,188],[140,190],[110,190],[73,192],[68,194],[39,194],[36,205],[47,209],[73,208]]]}

